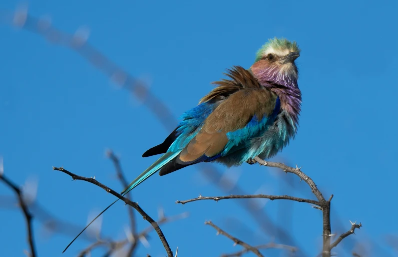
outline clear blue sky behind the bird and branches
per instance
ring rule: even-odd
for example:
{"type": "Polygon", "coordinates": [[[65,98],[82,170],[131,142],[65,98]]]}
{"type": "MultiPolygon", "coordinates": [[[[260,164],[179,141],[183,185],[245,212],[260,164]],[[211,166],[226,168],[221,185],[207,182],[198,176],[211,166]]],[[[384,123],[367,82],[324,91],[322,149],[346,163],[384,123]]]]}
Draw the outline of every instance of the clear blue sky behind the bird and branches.
{"type": "MultiPolygon", "coordinates": [[[[0,9],[12,12],[19,4],[2,1],[0,9]]],[[[54,26],[71,34],[81,26],[90,28],[90,44],[131,75],[148,81],[174,117],[194,107],[225,69],[250,67],[267,39],[297,41],[302,50],[297,59],[303,94],[300,127],[296,139],[275,160],[297,163],[325,197],[334,194],[332,232],[347,230],[349,220],[362,222],[363,228],[337,248],[338,253],[345,256],[362,243],[374,254],[393,256],[383,242],[386,235],[398,231],[397,7],[393,1],[38,0],[29,4],[29,13],[50,16],[54,26]]],[[[4,23],[0,35],[0,155],[5,172],[19,184],[37,181],[40,204],[63,220],[85,225],[90,213],[114,197],[89,183],[71,182],[52,166],[95,175],[122,190],[106,149],[120,155],[132,180],[156,158],[143,159],[141,154],[171,131],[142,102],[118,89],[70,48],[4,23]]],[[[153,217],[160,206],[167,215],[190,213],[186,219],[162,226],[172,249],[179,246],[179,255],[191,257],[239,249],[229,239],[216,236],[205,220],[252,244],[270,241],[273,232],[259,228],[238,200],[175,204],[199,194],[226,194],[203,175],[200,169],[206,165],[210,164],[153,176],[134,190],[134,200],[153,217]]],[[[239,187],[247,193],[313,197],[305,183],[276,169],[214,166],[224,176],[238,178],[239,187]]],[[[0,195],[9,199],[6,196],[12,192],[1,185],[0,195]]],[[[304,254],[318,253],[319,211],[305,203],[258,203],[260,213],[283,227],[304,254]]],[[[3,204],[2,255],[25,256],[23,216],[7,200],[3,204]]],[[[126,207],[118,203],[105,213],[102,233],[122,238],[127,224],[126,207]]],[[[61,254],[71,236],[45,236],[40,222],[34,226],[40,256],[76,256],[88,245],[78,240],[61,254]]],[[[144,228],[147,222],[138,218],[138,226],[144,228]]],[[[274,235],[276,242],[287,242],[274,235]]],[[[140,245],[138,256],[147,253],[164,255],[155,233],[149,248],[140,245]]],[[[270,254],[284,252],[270,250],[270,254]]]]}

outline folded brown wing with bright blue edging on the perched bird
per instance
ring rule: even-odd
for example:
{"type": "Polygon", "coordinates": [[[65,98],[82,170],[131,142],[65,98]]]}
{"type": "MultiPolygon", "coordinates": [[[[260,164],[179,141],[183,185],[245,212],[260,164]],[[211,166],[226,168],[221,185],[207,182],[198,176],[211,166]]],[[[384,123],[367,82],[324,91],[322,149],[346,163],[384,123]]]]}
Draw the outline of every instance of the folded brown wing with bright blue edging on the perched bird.
{"type": "Polygon", "coordinates": [[[263,129],[275,118],[279,108],[277,95],[265,88],[236,91],[208,115],[195,134],[178,137],[174,141],[170,147],[174,146],[174,152],[183,148],[176,158],[162,167],[159,174],[165,175],[188,165],[227,155],[232,147],[244,144],[263,129]],[[176,147],[175,144],[181,141],[185,143],[176,147]]]}

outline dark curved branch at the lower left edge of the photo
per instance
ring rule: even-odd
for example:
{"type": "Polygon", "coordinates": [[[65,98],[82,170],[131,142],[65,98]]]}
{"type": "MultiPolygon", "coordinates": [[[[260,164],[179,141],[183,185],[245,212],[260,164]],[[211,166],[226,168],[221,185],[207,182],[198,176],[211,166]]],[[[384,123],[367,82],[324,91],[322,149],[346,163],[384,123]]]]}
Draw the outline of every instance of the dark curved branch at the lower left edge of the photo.
{"type": "Polygon", "coordinates": [[[28,229],[28,243],[31,248],[31,252],[29,253],[30,257],[36,257],[36,246],[33,238],[33,225],[32,225],[32,214],[28,209],[28,204],[25,202],[24,196],[22,195],[22,190],[15,184],[13,183],[10,179],[8,179],[4,175],[4,171],[0,172],[0,180],[2,180],[6,185],[8,185],[18,196],[18,202],[19,205],[24,213],[25,220],[27,223],[27,229],[28,229]]]}

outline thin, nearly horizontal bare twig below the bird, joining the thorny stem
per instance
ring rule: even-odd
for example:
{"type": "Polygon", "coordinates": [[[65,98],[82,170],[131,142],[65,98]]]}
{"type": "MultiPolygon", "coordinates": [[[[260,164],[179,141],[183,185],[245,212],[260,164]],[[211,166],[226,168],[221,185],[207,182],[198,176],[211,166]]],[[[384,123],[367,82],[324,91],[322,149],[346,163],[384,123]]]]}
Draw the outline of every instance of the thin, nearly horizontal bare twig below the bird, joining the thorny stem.
{"type": "Polygon", "coordinates": [[[304,198],[298,198],[294,196],[289,196],[289,195],[267,195],[267,194],[251,194],[251,195],[227,195],[227,196],[201,196],[196,198],[192,198],[189,200],[183,200],[183,201],[176,201],[176,203],[181,203],[185,204],[188,202],[194,202],[194,201],[199,201],[199,200],[214,200],[214,201],[219,201],[219,200],[224,200],[224,199],[250,199],[250,198],[266,198],[270,200],[292,200],[292,201],[298,201],[298,202],[307,202],[315,205],[320,205],[318,201],[315,200],[310,200],[310,199],[304,199],[304,198]]]}

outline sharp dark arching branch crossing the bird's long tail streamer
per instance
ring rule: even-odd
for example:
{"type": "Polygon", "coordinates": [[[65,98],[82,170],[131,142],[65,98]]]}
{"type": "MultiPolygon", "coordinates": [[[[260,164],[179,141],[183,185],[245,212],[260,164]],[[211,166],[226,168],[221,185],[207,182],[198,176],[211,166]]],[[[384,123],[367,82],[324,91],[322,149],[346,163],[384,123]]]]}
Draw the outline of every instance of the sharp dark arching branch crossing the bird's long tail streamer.
{"type": "Polygon", "coordinates": [[[87,178],[87,177],[82,177],[82,176],[76,175],[76,174],[74,174],[74,173],[72,173],[72,172],[70,172],[70,171],[64,169],[63,167],[60,167],[60,168],[53,167],[53,169],[54,169],[54,170],[61,171],[61,172],[64,172],[65,174],[71,176],[74,180],[83,180],[83,181],[87,181],[87,182],[90,182],[90,183],[92,183],[92,184],[95,184],[95,185],[101,187],[102,189],[104,189],[105,191],[107,191],[108,193],[111,193],[111,194],[113,194],[114,196],[118,197],[119,199],[121,199],[122,201],[124,201],[126,204],[132,206],[134,209],[136,209],[136,210],[141,214],[141,216],[142,216],[145,220],[147,220],[147,221],[152,225],[152,227],[153,227],[153,228],[156,230],[156,232],[158,233],[158,236],[159,236],[160,240],[161,240],[162,243],[163,243],[163,246],[164,246],[164,248],[165,248],[165,250],[166,250],[166,252],[167,252],[167,255],[168,255],[169,257],[173,257],[173,252],[171,251],[170,246],[169,246],[169,243],[167,242],[166,237],[164,236],[164,234],[163,234],[162,230],[160,229],[158,223],[157,223],[155,220],[153,220],[153,218],[151,218],[151,217],[138,205],[138,203],[133,202],[133,201],[131,201],[130,199],[128,199],[128,198],[122,196],[121,194],[117,193],[116,191],[112,190],[111,188],[107,187],[106,185],[104,185],[104,184],[98,182],[98,181],[95,180],[94,178],[87,178]]]}

